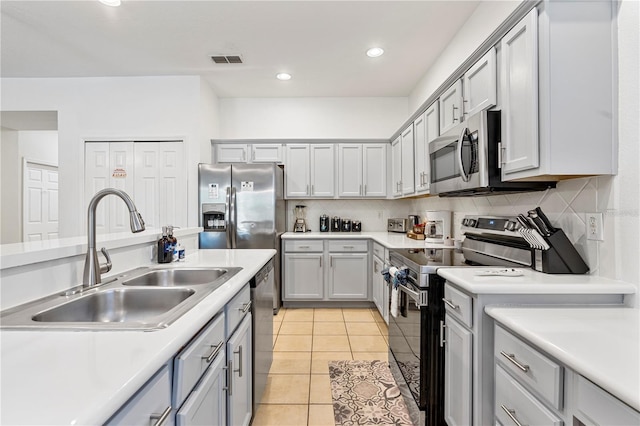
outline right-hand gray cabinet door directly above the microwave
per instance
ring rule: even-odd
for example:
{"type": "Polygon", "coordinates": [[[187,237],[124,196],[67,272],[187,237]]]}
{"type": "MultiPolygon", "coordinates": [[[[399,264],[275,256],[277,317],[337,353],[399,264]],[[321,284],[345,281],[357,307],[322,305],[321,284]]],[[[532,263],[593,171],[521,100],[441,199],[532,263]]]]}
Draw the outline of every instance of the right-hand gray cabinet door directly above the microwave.
{"type": "Polygon", "coordinates": [[[496,50],[491,48],[462,77],[465,117],[496,105],[496,66],[496,50]]]}

